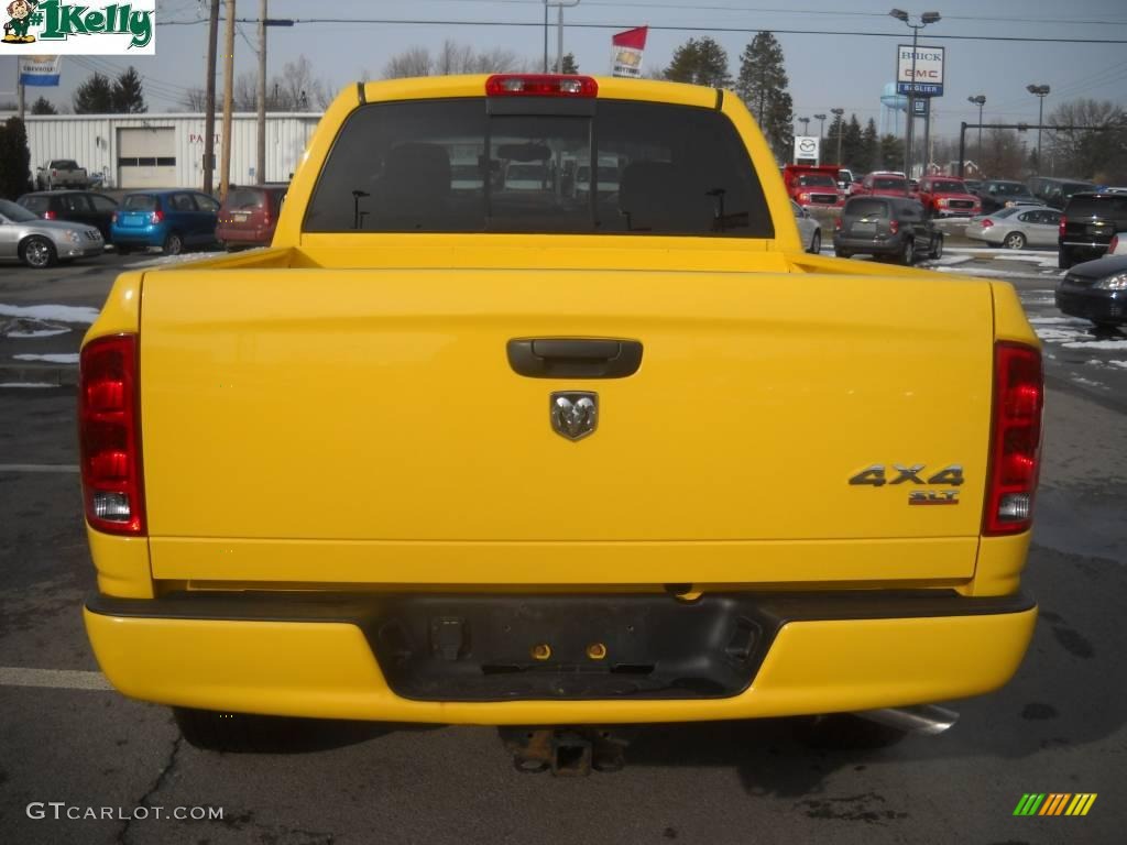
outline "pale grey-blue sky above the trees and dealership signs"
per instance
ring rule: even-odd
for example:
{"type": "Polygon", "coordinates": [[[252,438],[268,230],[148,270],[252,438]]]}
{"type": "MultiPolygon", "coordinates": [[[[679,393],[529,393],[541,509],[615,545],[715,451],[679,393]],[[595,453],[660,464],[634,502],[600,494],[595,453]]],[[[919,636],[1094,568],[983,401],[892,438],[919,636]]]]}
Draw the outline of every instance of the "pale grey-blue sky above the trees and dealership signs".
{"type": "MultiPolygon", "coordinates": [[[[791,1],[796,8],[782,8],[788,6],[787,0],[582,0],[578,7],[565,10],[565,21],[623,28],[669,27],[650,30],[645,59],[647,68],[664,68],[673,51],[686,38],[711,35],[728,51],[733,75],[739,70],[739,54],[754,32],[771,29],[782,44],[796,116],[811,116],[841,107],[846,115],[857,113],[862,123],[869,117],[879,122],[881,89],[895,74],[896,46],[911,43],[911,30],[888,16],[891,2],[791,1]],[[740,29],[747,32],[738,32],[740,29]]],[[[88,5],[104,3],[97,0],[88,5]]],[[[203,18],[207,6],[206,0],[158,0],[158,20],[165,25],[158,28],[157,55],[132,60],[145,79],[151,112],[180,109],[184,92],[192,87],[203,87],[206,25],[172,26],[169,21],[203,18]]],[[[1036,123],[1037,98],[1026,91],[1029,83],[1051,86],[1051,95],[1045,103],[1046,115],[1055,105],[1076,97],[1127,104],[1125,0],[937,0],[934,5],[900,2],[900,6],[911,12],[913,23],[923,11],[942,15],[940,23],[920,34],[921,44],[947,50],[946,92],[934,101],[933,125],[940,134],[956,134],[960,121],[977,122],[977,106],[967,103],[968,96],[977,94],[986,96],[986,122],[1036,123]],[[1000,37],[1119,43],[1004,42],[997,41],[1000,37]]],[[[241,0],[237,11],[239,17],[257,18],[258,0],[241,0]]],[[[316,74],[337,90],[355,81],[364,71],[370,77],[379,77],[387,60],[409,46],[435,48],[445,38],[479,50],[505,47],[526,55],[530,62],[538,62],[543,51],[543,14],[541,0],[269,0],[270,17],[443,23],[299,24],[293,28],[270,28],[268,72],[273,74],[286,61],[304,54],[312,61],[316,74]],[[487,25],[470,25],[482,21],[487,25]]],[[[554,18],[552,9],[553,21],[554,18]]],[[[239,30],[236,77],[257,69],[256,26],[242,24],[239,30]]],[[[613,30],[566,26],[565,52],[575,53],[582,72],[607,73],[613,30]]],[[[554,54],[554,26],[550,37],[554,54]]],[[[42,91],[56,104],[69,104],[73,88],[94,68],[112,71],[130,63],[127,57],[64,57],[62,86],[29,89],[29,99],[42,91]]],[[[0,57],[0,91],[14,89],[15,73],[15,59],[0,57]]],[[[218,84],[221,91],[222,80],[218,84]]],[[[813,123],[811,130],[816,125],[813,123]]]]}

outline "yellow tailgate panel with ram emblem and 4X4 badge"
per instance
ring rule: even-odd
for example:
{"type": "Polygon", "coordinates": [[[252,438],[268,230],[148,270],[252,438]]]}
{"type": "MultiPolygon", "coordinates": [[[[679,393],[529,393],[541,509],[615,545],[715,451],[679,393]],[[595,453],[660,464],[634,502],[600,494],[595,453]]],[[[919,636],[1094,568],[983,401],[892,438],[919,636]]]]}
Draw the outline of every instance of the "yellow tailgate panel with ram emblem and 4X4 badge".
{"type": "Polygon", "coordinates": [[[157,577],[638,580],[615,544],[648,548],[655,581],[974,571],[986,284],[184,269],[147,276],[141,314],[157,577]],[[529,337],[636,339],[641,366],[522,376],[506,345],[529,337]],[[553,432],[553,391],[598,394],[592,436],[553,432]],[[850,483],[873,465],[887,483],[850,483]],[[966,483],[928,483],[955,465],[966,483]]]}

